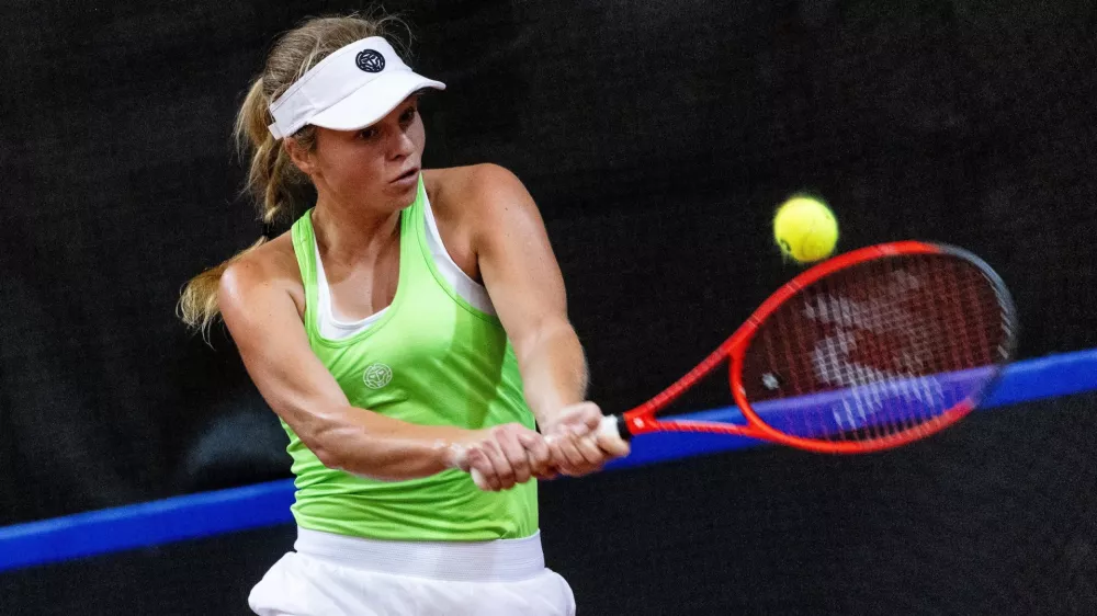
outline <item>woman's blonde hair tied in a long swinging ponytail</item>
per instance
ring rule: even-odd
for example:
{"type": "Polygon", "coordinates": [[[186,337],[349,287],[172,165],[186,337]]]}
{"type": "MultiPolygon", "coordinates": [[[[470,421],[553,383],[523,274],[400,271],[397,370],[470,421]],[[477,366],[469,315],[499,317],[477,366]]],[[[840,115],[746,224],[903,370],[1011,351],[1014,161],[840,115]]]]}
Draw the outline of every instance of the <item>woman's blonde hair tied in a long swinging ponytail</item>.
{"type": "MultiPolygon", "coordinates": [[[[332,52],[370,36],[391,38],[386,31],[389,23],[403,25],[396,16],[380,14],[308,19],[280,36],[267,56],[262,75],[251,84],[240,105],[234,132],[240,158],[249,152],[251,156],[244,192],[255,199],[264,228],[299,216],[310,198],[308,176],[297,169],[282,141],[275,140],[267,128],[273,122],[269,111],[271,102],[332,52]]],[[[393,43],[403,47],[398,41],[393,43]]],[[[293,138],[307,150],[316,147],[313,126],[306,125],[293,138]]],[[[179,298],[178,313],[183,322],[207,335],[220,312],[217,287],[225,270],[268,239],[264,235],[231,259],[191,278],[179,298]]]]}

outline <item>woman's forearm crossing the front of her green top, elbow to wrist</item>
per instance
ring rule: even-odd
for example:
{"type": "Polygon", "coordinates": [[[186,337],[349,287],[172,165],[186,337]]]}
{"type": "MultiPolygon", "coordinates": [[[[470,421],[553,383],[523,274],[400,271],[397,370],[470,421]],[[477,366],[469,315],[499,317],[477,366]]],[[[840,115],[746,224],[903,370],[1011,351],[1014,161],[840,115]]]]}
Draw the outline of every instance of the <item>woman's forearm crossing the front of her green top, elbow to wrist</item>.
{"type": "Polygon", "coordinates": [[[314,420],[306,445],[325,466],[386,481],[429,477],[450,468],[454,446],[472,434],[354,407],[317,413],[314,420]]]}

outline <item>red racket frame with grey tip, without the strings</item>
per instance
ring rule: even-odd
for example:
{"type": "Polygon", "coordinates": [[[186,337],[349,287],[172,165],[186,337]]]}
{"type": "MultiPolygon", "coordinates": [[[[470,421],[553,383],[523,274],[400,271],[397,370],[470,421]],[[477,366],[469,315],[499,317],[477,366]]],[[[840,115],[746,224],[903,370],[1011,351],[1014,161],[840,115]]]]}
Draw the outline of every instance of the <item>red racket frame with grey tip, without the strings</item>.
{"type": "MultiPolygon", "coordinates": [[[[989,388],[994,378],[988,379],[987,385],[981,391],[975,392],[972,397],[963,400],[925,423],[907,429],[903,432],[880,436],[864,442],[829,442],[784,434],[783,432],[767,425],[761,418],[758,417],[758,413],[750,406],[750,401],[746,398],[746,389],[743,386],[742,375],[743,356],[750,344],[750,340],[757,333],[761,323],[765,322],[765,320],[784,301],[795,296],[800,289],[835,272],[866,261],[890,259],[908,254],[953,254],[972,262],[983,270],[991,282],[997,286],[998,296],[1003,303],[1003,309],[1007,312],[1007,317],[1013,320],[1014,308],[1005,285],[1002,284],[997,274],[995,274],[989,266],[983,263],[979,258],[964,250],[945,244],[919,241],[900,241],[862,248],[824,261],[823,263],[811,267],[790,282],[785,283],[773,295],[766,299],[766,301],[764,301],[761,306],[755,310],[750,318],[747,319],[747,321],[743,323],[743,326],[740,326],[735,333],[725,340],[723,344],[721,344],[715,351],[712,352],[712,354],[698,364],[697,367],[690,370],[686,376],[678,379],[674,385],[667,387],[647,402],[622,413],[620,418],[615,418],[618,420],[617,423],[619,432],[625,437],[651,432],[704,432],[710,434],[746,436],[749,438],[769,441],[781,445],[825,454],[862,454],[905,445],[913,441],[940,432],[949,425],[960,421],[975,408],[980,397],[985,393],[986,389],[989,388]],[[675,401],[687,389],[711,373],[716,366],[720,366],[725,358],[731,362],[728,380],[732,388],[732,396],[748,422],[746,425],[709,421],[656,419],[656,413],[675,401]]],[[[1009,336],[1007,355],[1013,353],[1014,338],[1015,336],[1013,334],[1009,336]]],[[[1000,366],[1002,364],[999,363],[999,369],[1000,366]]]]}

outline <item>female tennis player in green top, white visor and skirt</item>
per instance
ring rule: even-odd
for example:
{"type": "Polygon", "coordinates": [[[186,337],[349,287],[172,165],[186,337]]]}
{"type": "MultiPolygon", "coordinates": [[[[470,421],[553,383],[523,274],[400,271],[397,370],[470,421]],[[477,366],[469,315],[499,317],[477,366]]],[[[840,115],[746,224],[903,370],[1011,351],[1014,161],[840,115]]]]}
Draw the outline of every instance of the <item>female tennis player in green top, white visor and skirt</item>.
{"type": "Polygon", "coordinates": [[[529,193],[490,164],[420,168],[418,96],[444,85],[404,64],[388,21],[315,19],[273,46],[237,136],[263,219],[295,223],[180,300],[193,327],[223,316],[290,438],[298,536],[249,603],[573,614],[544,564],[533,479],[627,450],[585,437],[601,412],[584,401],[583,349],[529,193]]]}

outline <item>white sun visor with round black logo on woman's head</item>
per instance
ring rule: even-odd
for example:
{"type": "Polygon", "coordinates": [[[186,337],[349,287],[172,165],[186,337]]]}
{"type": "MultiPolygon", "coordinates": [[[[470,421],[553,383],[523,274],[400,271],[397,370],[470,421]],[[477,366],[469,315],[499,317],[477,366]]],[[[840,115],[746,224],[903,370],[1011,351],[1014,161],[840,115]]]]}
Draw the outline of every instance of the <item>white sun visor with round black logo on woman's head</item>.
{"type": "Polygon", "coordinates": [[[359,130],[423,88],[444,90],[445,84],[416,75],[387,41],[371,36],[320,60],[271,103],[269,128],[275,139],[306,124],[359,130]]]}

